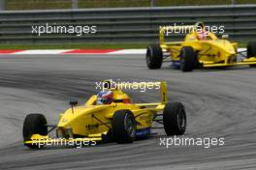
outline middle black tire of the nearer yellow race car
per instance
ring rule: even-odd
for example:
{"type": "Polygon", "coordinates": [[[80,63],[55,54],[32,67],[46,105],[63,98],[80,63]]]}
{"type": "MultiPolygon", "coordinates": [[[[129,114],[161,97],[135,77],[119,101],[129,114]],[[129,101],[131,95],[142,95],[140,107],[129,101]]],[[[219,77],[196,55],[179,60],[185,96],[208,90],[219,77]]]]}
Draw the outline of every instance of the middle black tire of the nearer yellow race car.
{"type": "Polygon", "coordinates": [[[136,137],[136,122],[130,110],[115,111],[112,117],[112,135],[117,143],[132,143],[136,137]]]}

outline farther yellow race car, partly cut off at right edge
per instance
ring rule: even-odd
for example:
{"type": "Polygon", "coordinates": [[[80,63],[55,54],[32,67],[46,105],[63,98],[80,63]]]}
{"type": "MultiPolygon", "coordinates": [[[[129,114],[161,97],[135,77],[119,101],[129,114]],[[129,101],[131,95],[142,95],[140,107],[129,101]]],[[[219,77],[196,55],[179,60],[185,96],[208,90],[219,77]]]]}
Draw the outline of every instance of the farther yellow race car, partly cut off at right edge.
{"type": "Polygon", "coordinates": [[[161,27],[159,44],[147,47],[147,67],[151,70],[160,69],[169,57],[172,64],[181,71],[238,65],[256,67],[256,42],[248,42],[247,55],[244,55],[246,51],[238,51],[237,42],[229,42],[226,38],[223,35],[222,39],[218,39],[205,29],[202,22],[195,25],[161,27]],[[184,42],[165,42],[166,33],[171,32],[170,30],[185,30],[188,34],[184,42]],[[239,54],[242,60],[239,59],[239,54]]]}

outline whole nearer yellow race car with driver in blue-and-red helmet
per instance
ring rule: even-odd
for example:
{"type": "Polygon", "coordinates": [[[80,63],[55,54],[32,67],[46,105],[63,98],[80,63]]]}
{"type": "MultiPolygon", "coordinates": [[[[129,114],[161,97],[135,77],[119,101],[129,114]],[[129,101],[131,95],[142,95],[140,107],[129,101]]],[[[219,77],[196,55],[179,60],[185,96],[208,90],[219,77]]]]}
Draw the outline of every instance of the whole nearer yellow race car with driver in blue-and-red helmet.
{"type": "Polygon", "coordinates": [[[130,85],[140,83],[112,86],[112,81],[104,81],[103,90],[84,104],[71,101],[71,108],[60,114],[57,125],[48,125],[42,114],[27,115],[23,124],[24,145],[39,149],[48,144],[131,143],[135,139],[148,137],[153,122],[162,124],[160,128],[164,128],[167,135],[182,135],[185,132],[185,108],[181,102],[168,101],[166,82],[150,82],[150,86],[160,89],[161,101],[157,103],[134,103],[122,91],[130,85]],[[53,129],[56,129],[56,135],[50,137],[53,129]]]}

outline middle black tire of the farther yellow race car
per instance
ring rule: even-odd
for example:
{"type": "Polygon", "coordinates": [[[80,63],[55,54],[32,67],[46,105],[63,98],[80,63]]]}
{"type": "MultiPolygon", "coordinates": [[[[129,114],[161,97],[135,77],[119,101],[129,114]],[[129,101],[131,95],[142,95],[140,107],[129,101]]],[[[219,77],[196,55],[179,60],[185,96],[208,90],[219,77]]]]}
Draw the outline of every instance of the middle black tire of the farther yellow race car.
{"type": "Polygon", "coordinates": [[[180,51],[180,66],[181,71],[193,71],[196,68],[196,53],[193,47],[183,46],[180,51]]]}

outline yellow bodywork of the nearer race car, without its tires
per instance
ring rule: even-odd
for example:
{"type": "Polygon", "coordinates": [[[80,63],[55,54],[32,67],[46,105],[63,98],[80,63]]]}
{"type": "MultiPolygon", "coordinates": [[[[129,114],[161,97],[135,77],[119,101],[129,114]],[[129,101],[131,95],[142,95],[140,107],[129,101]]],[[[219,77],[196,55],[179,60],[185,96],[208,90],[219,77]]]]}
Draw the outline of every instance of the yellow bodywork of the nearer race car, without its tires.
{"type": "MultiPolygon", "coordinates": [[[[33,134],[31,140],[25,141],[25,144],[42,143],[42,142],[57,142],[61,143],[66,138],[70,142],[76,140],[94,140],[100,141],[103,136],[107,135],[112,128],[112,116],[115,111],[129,109],[132,111],[137,122],[137,130],[150,128],[153,122],[154,115],[162,111],[167,103],[167,84],[166,82],[155,82],[155,87],[159,87],[161,92],[161,101],[157,103],[134,103],[130,97],[125,94],[121,86],[113,89],[108,89],[113,92],[113,101],[111,104],[97,105],[97,96],[93,95],[84,104],[69,108],[60,114],[59,122],[56,126],[56,131],[62,134],[57,139],[49,136],[33,134]],[[122,100],[130,100],[125,103],[122,100]],[[72,133],[72,134],[70,134],[72,133]],[[76,136],[79,136],[76,138],[76,136]],[[63,139],[64,138],[64,139],[63,139]]],[[[65,140],[66,140],[65,139],[65,140]]]]}

